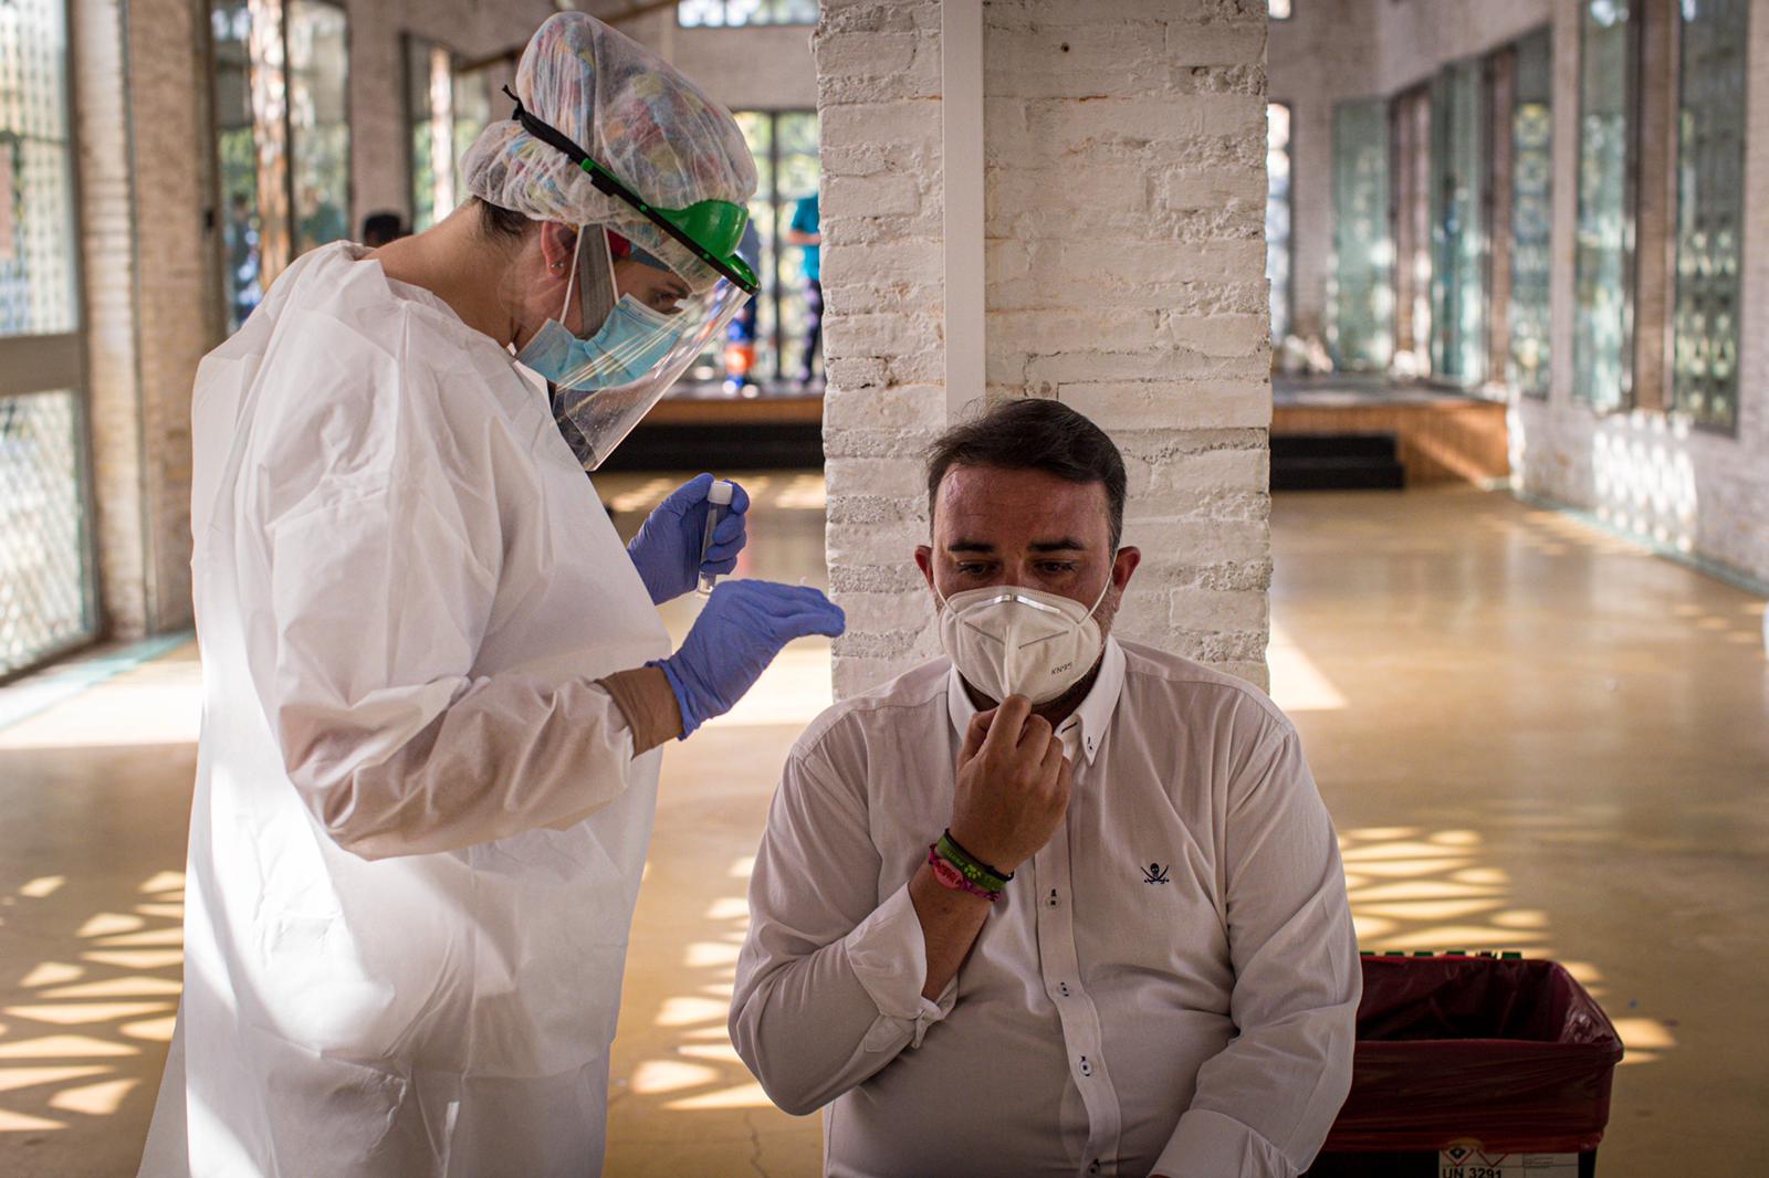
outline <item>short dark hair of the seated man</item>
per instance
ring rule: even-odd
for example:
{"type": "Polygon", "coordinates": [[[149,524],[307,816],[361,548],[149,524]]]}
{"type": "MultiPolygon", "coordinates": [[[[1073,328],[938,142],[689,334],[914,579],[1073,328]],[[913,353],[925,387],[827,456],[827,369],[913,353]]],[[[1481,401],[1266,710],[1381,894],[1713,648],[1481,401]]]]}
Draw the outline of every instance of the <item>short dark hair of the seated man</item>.
{"type": "Polygon", "coordinates": [[[1022,398],[952,426],[927,447],[927,516],[952,467],[1044,470],[1068,483],[1102,483],[1111,547],[1123,538],[1123,455],[1106,432],[1061,402],[1022,398]]]}

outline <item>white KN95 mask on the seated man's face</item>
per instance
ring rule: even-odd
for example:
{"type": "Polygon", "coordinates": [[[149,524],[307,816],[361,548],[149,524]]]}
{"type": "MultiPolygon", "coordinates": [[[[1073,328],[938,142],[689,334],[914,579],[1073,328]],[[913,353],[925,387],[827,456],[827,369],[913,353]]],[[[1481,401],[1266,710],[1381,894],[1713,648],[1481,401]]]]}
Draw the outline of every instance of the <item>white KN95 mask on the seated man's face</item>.
{"type": "Polygon", "coordinates": [[[936,589],[939,644],[966,683],[996,702],[1024,695],[1047,704],[1099,662],[1106,637],[1095,614],[1109,589],[1111,577],[1093,608],[1042,589],[991,585],[950,598],[936,589]]]}

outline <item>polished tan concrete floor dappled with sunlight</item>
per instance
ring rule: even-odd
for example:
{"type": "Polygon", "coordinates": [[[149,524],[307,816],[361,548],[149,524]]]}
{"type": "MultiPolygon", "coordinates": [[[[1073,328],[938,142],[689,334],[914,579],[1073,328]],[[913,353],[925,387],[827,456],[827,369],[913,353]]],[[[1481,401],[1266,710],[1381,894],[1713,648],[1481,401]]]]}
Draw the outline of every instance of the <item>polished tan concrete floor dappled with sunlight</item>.
{"type": "MultiPolygon", "coordinates": [[[[821,479],[747,483],[745,571],[821,584],[821,479]]],[[[672,485],[603,492],[632,529],[672,485]]],[[[1599,1173],[1760,1173],[1764,603],[1477,492],[1281,497],[1274,543],[1274,693],[1339,824],[1364,946],[1567,962],[1629,1044],[1599,1173]]],[[[7,1178],[133,1173],[177,1001],[196,676],[184,646],[0,690],[7,1178]]],[[[796,646],[667,757],[609,1174],[817,1173],[817,1120],[775,1111],[724,1026],[775,771],[828,693],[828,646],[796,646]]]]}

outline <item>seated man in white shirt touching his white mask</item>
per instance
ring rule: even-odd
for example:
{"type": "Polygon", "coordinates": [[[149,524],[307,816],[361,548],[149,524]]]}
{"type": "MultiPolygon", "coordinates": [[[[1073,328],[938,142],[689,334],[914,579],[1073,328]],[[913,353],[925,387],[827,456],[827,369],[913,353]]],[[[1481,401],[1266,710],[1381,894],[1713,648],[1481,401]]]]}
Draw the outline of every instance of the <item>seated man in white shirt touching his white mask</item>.
{"type": "Polygon", "coordinates": [[[1123,460],[1012,402],[930,451],[946,656],[793,748],[731,1036],[839,1178],[1291,1176],[1360,971],[1332,822],[1258,690],[1118,642],[1123,460]]]}

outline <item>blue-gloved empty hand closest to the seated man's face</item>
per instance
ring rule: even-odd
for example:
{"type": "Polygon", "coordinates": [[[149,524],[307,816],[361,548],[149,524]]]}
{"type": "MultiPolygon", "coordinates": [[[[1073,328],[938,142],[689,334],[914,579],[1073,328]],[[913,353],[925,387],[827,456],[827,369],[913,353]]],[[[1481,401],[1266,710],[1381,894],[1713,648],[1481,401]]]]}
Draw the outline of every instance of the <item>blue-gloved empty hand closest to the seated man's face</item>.
{"type": "Polygon", "coordinates": [[[816,589],[771,580],[724,580],[701,617],[662,667],[686,738],[713,716],[731,711],[755,686],[768,663],[793,639],[842,633],[842,610],[816,589]]]}

